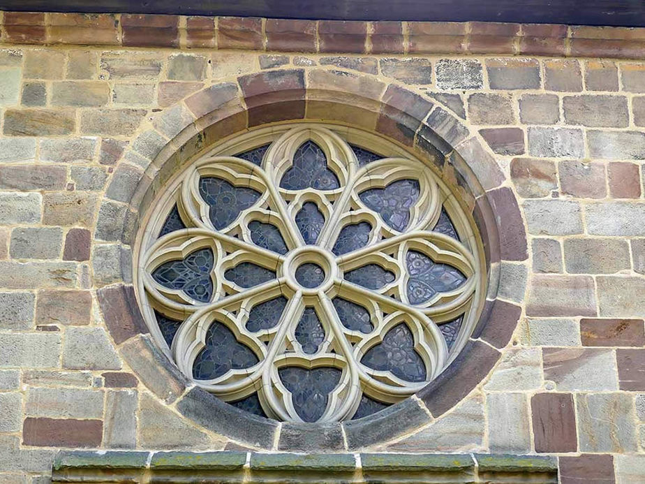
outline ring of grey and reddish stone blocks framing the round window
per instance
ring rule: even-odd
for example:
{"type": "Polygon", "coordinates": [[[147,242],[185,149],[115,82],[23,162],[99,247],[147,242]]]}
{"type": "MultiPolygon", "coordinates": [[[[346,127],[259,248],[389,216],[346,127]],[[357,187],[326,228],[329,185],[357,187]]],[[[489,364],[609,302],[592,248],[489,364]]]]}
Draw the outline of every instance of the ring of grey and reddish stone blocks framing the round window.
{"type": "Polygon", "coordinates": [[[510,342],[521,307],[497,299],[501,261],[528,258],[517,200],[494,158],[449,109],[376,76],[322,69],[244,75],[206,87],[149,118],[114,170],[98,214],[95,242],[121,257],[119,280],[98,289],[119,352],[152,393],[198,425],[248,446],[279,450],[345,450],[375,446],[447,413],[494,367],[510,342]],[[158,190],[203,149],[253,126],[324,120],[374,131],[433,162],[472,214],[489,267],[487,302],[470,342],[438,379],[410,399],[373,416],[334,425],[277,423],[249,416],[196,388],[147,335],[131,278],[138,221],[158,190]],[[120,207],[115,216],[114,207],[120,207]],[[110,210],[112,209],[112,210],[110,210]],[[119,226],[121,230],[104,230],[119,226]]]}

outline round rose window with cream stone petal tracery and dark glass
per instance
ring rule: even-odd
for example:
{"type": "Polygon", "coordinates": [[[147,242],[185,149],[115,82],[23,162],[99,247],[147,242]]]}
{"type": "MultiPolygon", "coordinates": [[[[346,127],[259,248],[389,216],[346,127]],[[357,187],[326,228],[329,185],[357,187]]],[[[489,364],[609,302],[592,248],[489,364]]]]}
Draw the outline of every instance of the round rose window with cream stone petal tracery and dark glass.
{"type": "Polygon", "coordinates": [[[361,418],[427,385],[483,300],[479,237],[429,166],[375,135],[288,124],[173,179],[139,237],[152,335],[251,413],[361,418]]]}

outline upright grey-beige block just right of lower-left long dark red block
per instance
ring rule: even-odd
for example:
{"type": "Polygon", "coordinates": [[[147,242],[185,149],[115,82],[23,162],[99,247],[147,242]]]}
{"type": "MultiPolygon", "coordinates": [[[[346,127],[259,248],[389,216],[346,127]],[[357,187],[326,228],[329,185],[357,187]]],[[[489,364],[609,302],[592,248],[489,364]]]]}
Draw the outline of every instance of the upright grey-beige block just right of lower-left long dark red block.
{"type": "Polygon", "coordinates": [[[105,395],[103,445],[134,448],[137,445],[138,398],[135,390],[113,390],[105,395]]]}

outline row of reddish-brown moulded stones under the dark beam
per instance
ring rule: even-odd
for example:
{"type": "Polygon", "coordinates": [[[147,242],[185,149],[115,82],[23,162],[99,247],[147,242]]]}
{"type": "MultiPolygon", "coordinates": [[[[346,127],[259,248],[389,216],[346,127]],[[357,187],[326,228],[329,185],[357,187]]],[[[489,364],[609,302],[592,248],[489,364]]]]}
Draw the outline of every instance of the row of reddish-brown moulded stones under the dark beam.
{"type": "Polygon", "coordinates": [[[645,59],[645,28],[500,22],[362,22],[120,13],[3,12],[0,42],[645,59]]]}

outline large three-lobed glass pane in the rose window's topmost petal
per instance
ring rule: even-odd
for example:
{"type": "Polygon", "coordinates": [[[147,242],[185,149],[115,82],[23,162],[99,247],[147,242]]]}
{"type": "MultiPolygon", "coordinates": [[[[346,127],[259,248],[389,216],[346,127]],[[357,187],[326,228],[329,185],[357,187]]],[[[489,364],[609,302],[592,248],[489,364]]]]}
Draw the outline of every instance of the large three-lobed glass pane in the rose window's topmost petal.
{"type": "Polygon", "coordinates": [[[333,190],[339,186],[338,177],[327,166],[325,152],[311,140],[296,150],[291,168],[280,181],[280,188],[288,190],[333,190]]]}

